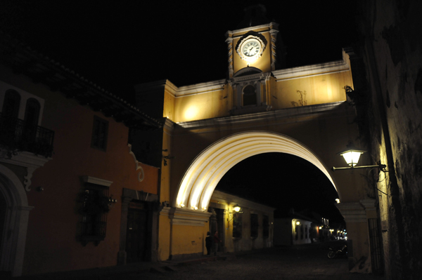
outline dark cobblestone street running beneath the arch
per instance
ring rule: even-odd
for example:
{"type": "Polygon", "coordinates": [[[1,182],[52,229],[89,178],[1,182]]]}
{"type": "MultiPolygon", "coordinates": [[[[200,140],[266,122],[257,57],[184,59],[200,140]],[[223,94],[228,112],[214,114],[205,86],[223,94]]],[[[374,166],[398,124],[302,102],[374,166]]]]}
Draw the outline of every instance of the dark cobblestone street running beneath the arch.
{"type": "Polygon", "coordinates": [[[383,279],[348,272],[347,258],[328,259],[325,247],[274,248],[227,260],[179,265],[174,272],[153,269],[142,276],[130,274],[127,279],[383,279]]]}

